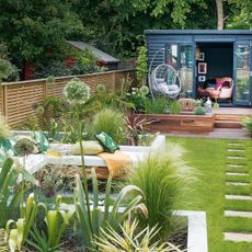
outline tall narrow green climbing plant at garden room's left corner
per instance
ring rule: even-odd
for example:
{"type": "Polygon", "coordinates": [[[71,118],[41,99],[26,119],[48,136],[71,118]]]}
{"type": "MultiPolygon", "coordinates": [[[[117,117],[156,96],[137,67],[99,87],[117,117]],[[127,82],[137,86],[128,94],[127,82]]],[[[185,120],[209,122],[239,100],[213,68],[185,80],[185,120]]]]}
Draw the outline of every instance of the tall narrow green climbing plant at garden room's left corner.
{"type": "Polygon", "coordinates": [[[138,56],[136,61],[136,70],[137,70],[137,80],[140,85],[146,84],[146,78],[148,72],[147,66],[147,47],[141,46],[138,48],[138,56]]]}

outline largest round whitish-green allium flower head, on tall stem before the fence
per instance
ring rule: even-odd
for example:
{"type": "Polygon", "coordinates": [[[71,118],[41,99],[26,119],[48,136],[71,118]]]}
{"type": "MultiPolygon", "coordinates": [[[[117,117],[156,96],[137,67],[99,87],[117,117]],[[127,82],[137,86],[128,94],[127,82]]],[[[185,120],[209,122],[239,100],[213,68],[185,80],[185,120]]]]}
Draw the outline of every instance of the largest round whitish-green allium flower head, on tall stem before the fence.
{"type": "Polygon", "coordinates": [[[64,88],[64,95],[71,104],[83,104],[90,99],[90,88],[80,79],[73,78],[64,88]]]}

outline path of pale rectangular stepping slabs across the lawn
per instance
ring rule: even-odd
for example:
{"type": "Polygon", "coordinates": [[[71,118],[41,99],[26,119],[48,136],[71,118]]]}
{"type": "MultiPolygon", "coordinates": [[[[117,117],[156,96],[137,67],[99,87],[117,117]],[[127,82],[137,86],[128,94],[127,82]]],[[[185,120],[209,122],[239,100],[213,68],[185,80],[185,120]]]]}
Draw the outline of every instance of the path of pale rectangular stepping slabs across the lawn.
{"type": "MultiPolygon", "coordinates": [[[[227,191],[225,195],[227,208],[224,210],[224,216],[227,220],[240,224],[245,224],[252,218],[250,168],[247,164],[250,152],[251,150],[243,142],[230,140],[227,146],[227,191]]],[[[252,242],[252,232],[247,231],[242,225],[239,229],[234,226],[225,229],[224,239],[226,241],[252,242]]]]}

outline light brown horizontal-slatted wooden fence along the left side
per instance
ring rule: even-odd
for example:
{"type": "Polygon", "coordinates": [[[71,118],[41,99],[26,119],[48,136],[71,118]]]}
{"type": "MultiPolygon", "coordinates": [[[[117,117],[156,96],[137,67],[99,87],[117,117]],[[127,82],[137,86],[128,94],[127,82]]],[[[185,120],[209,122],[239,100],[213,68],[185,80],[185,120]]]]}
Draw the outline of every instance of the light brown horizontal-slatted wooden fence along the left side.
{"type": "MultiPolygon", "coordinates": [[[[121,87],[123,78],[129,76],[134,81],[134,70],[117,70],[78,76],[95,92],[99,83],[106,85],[107,91],[114,91],[121,87]]],[[[22,124],[30,115],[35,114],[34,106],[42,104],[47,96],[62,98],[62,90],[71,77],[56,78],[55,83],[47,84],[46,79],[8,82],[0,87],[0,114],[7,117],[10,126],[22,124]]]]}

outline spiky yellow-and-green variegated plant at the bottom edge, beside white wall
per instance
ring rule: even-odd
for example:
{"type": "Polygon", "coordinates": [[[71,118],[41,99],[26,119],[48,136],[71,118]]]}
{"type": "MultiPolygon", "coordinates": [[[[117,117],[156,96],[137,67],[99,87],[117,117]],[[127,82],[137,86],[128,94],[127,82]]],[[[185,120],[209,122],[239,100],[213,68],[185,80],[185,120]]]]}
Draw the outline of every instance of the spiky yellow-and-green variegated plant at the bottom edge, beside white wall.
{"type": "Polygon", "coordinates": [[[108,227],[101,230],[101,236],[95,241],[99,247],[98,251],[104,252],[131,252],[131,251],[156,251],[156,252],[182,252],[175,245],[169,242],[154,241],[154,237],[159,232],[159,228],[145,228],[138,231],[138,221],[133,222],[125,220],[124,225],[119,225],[119,232],[108,227]]]}

